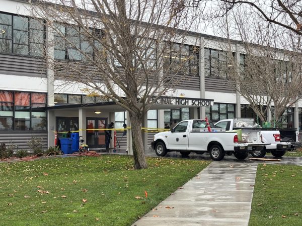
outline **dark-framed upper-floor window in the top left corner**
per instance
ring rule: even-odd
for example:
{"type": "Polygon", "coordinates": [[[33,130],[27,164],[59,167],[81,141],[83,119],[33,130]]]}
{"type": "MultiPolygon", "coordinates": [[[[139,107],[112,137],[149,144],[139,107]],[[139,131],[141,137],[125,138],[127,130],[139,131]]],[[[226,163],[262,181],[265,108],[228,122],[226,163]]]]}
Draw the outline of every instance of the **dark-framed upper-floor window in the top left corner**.
{"type": "Polygon", "coordinates": [[[0,13],[0,52],[43,56],[43,21],[0,13]]]}

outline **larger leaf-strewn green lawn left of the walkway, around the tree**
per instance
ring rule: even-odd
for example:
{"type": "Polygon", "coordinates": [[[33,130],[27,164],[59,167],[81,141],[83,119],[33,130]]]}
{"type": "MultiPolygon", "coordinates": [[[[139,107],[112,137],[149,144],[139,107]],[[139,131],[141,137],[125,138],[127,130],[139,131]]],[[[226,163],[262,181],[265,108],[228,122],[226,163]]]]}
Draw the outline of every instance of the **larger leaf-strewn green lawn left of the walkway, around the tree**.
{"type": "Polygon", "coordinates": [[[118,155],[1,163],[0,225],[130,225],[210,163],[147,162],[144,170],[118,155]]]}

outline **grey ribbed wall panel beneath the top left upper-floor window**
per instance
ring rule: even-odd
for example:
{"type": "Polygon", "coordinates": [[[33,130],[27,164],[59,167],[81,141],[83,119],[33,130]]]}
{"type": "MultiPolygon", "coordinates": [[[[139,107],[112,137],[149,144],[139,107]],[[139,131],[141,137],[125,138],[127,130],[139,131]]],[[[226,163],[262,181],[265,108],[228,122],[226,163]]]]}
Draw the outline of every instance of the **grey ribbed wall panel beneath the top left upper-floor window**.
{"type": "Polygon", "coordinates": [[[0,73],[9,75],[46,77],[45,60],[30,56],[0,54],[0,73]]]}

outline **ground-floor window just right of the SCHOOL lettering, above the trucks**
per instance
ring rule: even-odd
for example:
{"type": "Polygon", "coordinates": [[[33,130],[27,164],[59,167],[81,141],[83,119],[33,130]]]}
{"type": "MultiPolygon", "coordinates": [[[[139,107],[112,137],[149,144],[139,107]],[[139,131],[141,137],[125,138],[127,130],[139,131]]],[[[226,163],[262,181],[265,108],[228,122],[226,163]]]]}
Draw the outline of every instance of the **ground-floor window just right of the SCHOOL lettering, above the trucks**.
{"type": "Polygon", "coordinates": [[[213,106],[206,106],[205,116],[213,122],[224,119],[233,119],[235,118],[235,104],[214,103],[213,106]]]}

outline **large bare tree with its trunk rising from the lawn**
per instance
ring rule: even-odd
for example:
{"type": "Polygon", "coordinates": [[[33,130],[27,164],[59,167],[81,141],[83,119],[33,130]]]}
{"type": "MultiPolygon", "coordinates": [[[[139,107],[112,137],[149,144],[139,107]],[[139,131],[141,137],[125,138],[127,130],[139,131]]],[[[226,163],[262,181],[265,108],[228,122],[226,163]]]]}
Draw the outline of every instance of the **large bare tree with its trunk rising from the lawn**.
{"type": "MultiPolygon", "coordinates": [[[[144,114],[190,77],[187,68],[194,59],[189,54],[198,51],[184,46],[184,30],[195,17],[185,5],[186,0],[56,0],[30,6],[32,16],[53,30],[48,45],[55,55],[46,58],[55,78],[85,84],[91,94],[129,111],[135,169],[147,167],[144,114]]],[[[191,37],[192,46],[196,40],[191,37]]]]}

